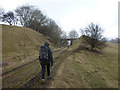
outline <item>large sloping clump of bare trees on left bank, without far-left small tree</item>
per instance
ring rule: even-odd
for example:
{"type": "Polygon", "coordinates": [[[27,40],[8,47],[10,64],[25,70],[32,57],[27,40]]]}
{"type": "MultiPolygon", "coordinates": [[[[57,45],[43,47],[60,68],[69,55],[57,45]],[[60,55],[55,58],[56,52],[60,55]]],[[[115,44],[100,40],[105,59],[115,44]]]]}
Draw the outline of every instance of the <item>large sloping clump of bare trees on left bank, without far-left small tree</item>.
{"type": "Polygon", "coordinates": [[[50,41],[56,45],[59,43],[61,28],[39,9],[34,6],[23,5],[18,7],[15,12],[22,26],[32,28],[50,37],[50,41]]]}

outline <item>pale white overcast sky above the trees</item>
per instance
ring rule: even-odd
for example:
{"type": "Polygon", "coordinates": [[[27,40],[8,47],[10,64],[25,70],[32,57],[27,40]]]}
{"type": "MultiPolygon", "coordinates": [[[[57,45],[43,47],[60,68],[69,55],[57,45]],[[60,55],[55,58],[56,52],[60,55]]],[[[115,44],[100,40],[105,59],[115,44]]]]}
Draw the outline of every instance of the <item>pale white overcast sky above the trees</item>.
{"type": "Polygon", "coordinates": [[[75,29],[80,33],[90,22],[104,29],[107,38],[118,37],[119,0],[0,0],[5,11],[14,10],[20,5],[37,6],[45,15],[52,18],[69,33],[75,29]]]}

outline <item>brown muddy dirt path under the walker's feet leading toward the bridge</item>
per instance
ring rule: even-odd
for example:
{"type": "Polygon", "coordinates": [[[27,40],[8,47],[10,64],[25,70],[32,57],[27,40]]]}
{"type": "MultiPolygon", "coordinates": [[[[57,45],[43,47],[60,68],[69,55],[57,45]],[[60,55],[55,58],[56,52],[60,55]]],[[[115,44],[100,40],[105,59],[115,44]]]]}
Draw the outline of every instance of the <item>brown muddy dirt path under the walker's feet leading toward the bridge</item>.
{"type": "Polygon", "coordinates": [[[41,72],[38,72],[34,77],[32,77],[27,83],[22,85],[20,88],[32,88],[32,87],[35,87],[35,88],[46,88],[51,83],[51,81],[53,80],[53,78],[54,78],[54,76],[55,76],[55,74],[57,72],[57,69],[61,65],[62,61],[66,58],[65,57],[66,55],[64,55],[64,52],[66,52],[66,50],[67,49],[63,50],[54,59],[54,67],[51,70],[51,75],[52,75],[52,79],[51,80],[46,80],[46,83],[44,85],[42,85],[41,82],[40,82],[40,80],[41,80],[41,72]],[[59,59],[59,58],[61,58],[61,59],[59,59]]]}

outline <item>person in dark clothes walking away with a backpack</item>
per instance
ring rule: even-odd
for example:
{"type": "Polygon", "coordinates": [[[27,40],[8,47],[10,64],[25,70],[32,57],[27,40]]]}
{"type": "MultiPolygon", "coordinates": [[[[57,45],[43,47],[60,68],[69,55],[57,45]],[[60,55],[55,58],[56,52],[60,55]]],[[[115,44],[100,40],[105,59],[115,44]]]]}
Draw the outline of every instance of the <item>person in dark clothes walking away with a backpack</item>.
{"type": "Polygon", "coordinates": [[[50,66],[53,66],[53,55],[48,42],[45,42],[44,45],[40,47],[39,61],[42,67],[42,84],[44,84],[46,66],[48,79],[51,79],[50,66]]]}

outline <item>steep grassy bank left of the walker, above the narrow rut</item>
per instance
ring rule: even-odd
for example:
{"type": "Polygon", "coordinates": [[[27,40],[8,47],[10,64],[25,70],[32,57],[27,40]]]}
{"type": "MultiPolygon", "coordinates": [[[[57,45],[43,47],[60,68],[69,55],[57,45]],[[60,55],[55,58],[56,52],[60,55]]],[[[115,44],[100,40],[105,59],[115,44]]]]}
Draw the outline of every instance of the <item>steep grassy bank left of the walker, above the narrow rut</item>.
{"type": "Polygon", "coordinates": [[[40,46],[46,41],[45,36],[32,29],[2,25],[3,72],[38,58],[40,46]]]}

